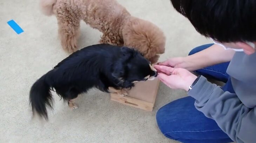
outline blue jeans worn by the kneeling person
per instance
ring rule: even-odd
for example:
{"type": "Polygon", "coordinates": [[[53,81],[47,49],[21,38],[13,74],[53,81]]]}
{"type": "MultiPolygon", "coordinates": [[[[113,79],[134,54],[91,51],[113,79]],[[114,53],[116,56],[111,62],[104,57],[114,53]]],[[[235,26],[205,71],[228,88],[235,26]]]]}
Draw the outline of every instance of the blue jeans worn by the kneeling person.
{"type": "MultiPolygon", "coordinates": [[[[189,55],[202,51],[213,44],[194,48],[189,55]]],[[[229,75],[226,73],[229,62],[206,67],[195,72],[206,77],[215,78],[226,84],[224,91],[234,93],[229,75]]],[[[168,138],[183,143],[229,143],[233,142],[217,123],[196,110],[195,99],[188,96],[164,105],[156,113],[157,125],[168,138]]]]}

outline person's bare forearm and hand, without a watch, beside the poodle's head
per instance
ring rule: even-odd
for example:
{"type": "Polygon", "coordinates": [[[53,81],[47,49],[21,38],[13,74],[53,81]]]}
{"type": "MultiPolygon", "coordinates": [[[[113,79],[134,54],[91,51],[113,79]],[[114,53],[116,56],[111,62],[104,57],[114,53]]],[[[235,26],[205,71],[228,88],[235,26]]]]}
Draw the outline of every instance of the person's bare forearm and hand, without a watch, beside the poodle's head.
{"type": "Polygon", "coordinates": [[[218,63],[231,61],[234,54],[234,50],[225,50],[223,47],[214,44],[213,46],[193,55],[170,58],[167,61],[160,62],[158,64],[194,71],[204,67],[213,66],[218,63]]]}

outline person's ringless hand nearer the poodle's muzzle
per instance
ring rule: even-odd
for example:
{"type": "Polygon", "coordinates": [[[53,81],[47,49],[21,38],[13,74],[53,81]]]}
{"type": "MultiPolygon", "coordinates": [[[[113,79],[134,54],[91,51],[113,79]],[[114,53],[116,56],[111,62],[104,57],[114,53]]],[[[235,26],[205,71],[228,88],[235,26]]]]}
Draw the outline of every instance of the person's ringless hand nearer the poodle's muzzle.
{"type": "Polygon", "coordinates": [[[164,62],[159,62],[157,65],[168,66],[173,68],[186,68],[185,57],[174,57],[170,58],[164,62]]]}

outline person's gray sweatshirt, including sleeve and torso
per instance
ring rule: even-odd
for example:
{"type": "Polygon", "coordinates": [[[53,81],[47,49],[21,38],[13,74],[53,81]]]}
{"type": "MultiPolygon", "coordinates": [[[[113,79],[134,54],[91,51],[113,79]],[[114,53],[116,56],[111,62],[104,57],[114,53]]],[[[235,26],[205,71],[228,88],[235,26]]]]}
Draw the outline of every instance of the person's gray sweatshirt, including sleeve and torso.
{"type": "Polygon", "coordinates": [[[188,92],[195,107],[237,143],[256,143],[256,53],[236,52],[227,73],[235,94],[224,92],[203,76],[188,92]]]}

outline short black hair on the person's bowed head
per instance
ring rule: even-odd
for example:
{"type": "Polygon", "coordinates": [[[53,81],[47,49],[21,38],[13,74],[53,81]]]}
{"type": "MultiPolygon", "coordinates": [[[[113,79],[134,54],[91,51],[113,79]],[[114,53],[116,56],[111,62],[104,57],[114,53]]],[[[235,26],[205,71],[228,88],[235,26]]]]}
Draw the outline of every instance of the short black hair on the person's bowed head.
{"type": "Polygon", "coordinates": [[[256,0],[171,0],[201,35],[220,42],[256,41],[256,0]]]}

